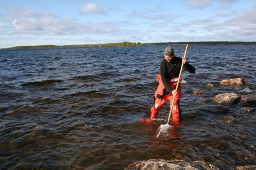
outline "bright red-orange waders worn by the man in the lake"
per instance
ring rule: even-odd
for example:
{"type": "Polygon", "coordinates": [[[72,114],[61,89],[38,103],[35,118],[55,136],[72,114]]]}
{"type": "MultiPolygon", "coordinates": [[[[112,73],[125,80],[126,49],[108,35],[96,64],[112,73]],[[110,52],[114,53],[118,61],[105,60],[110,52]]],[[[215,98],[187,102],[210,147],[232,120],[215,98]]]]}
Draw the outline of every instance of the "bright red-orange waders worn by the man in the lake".
{"type": "MultiPolygon", "coordinates": [[[[150,118],[157,118],[159,110],[163,107],[163,105],[166,103],[167,100],[170,100],[170,105],[172,103],[173,100],[173,95],[168,93],[166,93],[166,89],[165,86],[162,83],[162,79],[160,74],[157,75],[157,80],[159,81],[159,85],[155,91],[155,101],[153,106],[151,107],[151,117],[150,118]]],[[[170,86],[172,87],[172,89],[175,90],[176,85],[177,85],[177,81],[178,81],[178,77],[173,78],[171,80],[169,80],[170,86]]],[[[181,82],[181,80],[180,80],[181,82]]],[[[180,88],[180,84],[177,90],[177,94],[174,100],[174,105],[173,105],[173,121],[174,122],[179,122],[181,119],[181,111],[180,111],[180,107],[179,107],[179,99],[181,98],[181,88],[180,88]]],[[[171,107],[171,106],[170,106],[171,107]]]]}

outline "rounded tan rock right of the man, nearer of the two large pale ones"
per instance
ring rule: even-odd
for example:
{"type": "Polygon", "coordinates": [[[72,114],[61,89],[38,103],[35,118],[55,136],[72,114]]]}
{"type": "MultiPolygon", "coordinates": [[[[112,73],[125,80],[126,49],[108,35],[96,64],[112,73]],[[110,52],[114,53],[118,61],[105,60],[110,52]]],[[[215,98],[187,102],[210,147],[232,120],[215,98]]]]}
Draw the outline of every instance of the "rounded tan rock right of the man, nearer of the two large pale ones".
{"type": "Polygon", "coordinates": [[[214,96],[213,100],[219,104],[233,104],[233,103],[237,103],[238,94],[235,94],[235,93],[218,94],[214,96]]]}

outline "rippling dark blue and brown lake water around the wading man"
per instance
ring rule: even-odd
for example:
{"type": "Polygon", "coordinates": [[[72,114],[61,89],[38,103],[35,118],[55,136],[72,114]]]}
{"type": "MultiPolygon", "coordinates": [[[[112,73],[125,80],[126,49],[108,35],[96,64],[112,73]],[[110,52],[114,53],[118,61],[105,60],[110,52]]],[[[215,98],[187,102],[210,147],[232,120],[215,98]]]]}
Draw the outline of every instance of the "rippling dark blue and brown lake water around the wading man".
{"type": "MultiPolygon", "coordinates": [[[[145,125],[140,118],[150,114],[165,47],[0,51],[0,169],[124,169],[148,159],[255,165],[255,111],[212,98],[255,94],[256,46],[189,46],[196,73],[182,73],[182,124],[156,138],[169,104],[160,111],[165,120],[145,125]],[[249,85],[219,85],[238,77],[249,85]]],[[[173,47],[181,57],[185,45],[173,47]]]]}

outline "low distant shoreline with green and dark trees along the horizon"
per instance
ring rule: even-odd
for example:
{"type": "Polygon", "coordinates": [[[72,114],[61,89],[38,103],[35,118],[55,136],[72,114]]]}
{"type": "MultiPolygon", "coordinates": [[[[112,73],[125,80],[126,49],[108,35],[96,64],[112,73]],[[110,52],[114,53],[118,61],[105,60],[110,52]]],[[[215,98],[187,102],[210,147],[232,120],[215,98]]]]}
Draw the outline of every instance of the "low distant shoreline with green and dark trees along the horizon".
{"type": "Polygon", "coordinates": [[[55,48],[79,48],[79,47],[106,47],[106,46],[147,46],[147,45],[256,45],[256,42],[163,42],[163,43],[108,43],[108,44],[84,44],[84,45],[31,45],[31,46],[15,46],[3,48],[0,50],[19,50],[19,49],[55,49],[55,48]]]}

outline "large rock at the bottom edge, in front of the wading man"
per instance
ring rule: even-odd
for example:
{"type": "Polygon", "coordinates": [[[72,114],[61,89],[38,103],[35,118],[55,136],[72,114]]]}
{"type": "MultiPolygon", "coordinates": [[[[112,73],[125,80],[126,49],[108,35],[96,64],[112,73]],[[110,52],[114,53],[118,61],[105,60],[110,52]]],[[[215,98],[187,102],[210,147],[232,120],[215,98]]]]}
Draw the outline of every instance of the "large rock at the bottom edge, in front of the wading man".
{"type": "Polygon", "coordinates": [[[132,169],[176,169],[176,170],[196,170],[196,169],[219,169],[211,164],[206,164],[202,161],[186,162],[183,160],[164,160],[164,159],[149,159],[147,161],[138,161],[129,165],[126,170],[132,169]]]}

